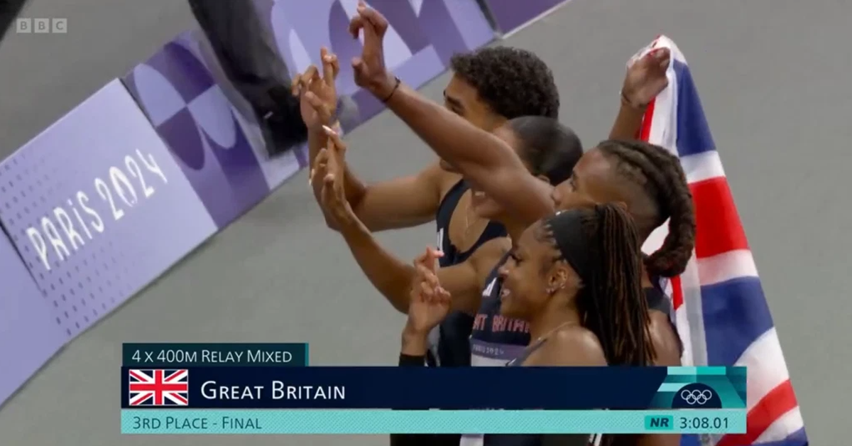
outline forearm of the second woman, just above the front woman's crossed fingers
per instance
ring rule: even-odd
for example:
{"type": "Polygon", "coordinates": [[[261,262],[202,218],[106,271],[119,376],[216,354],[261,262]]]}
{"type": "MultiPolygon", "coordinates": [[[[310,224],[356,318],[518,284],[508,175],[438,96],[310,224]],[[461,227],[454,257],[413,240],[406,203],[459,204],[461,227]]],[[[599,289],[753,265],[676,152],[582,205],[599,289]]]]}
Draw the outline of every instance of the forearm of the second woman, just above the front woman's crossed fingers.
{"type": "Polygon", "coordinates": [[[339,229],[355,261],[373,287],[401,313],[408,312],[414,267],[401,262],[380,246],[365,226],[344,223],[339,229]]]}

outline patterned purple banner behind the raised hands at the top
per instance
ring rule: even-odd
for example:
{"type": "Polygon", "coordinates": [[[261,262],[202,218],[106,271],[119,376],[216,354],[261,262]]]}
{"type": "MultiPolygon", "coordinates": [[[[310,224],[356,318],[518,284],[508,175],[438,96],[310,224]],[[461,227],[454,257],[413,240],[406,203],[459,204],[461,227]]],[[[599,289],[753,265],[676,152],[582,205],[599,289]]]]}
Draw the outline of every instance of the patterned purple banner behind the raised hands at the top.
{"type": "MultiPolygon", "coordinates": [[[[382,111],[382,104],[360,90],[348,63],[360,55],[361,43],[348,33],[358,0],[314,0],[284,2],[255,0],[268,17],[279,55],[291,74],[311,64],[320,65],[320,47],[337,54],[341,61],[337,78],[339,91],[351,95],[360,110],[360,122],[382,111]]],[[[394,73],[407,84],[420,87],[446,70],[450,57],[489,43],[491,26],[473,0],[373,0],[390,23],[385,35],[385,58],[394,73]]],[[[348,123],[347,123],[348,124],[348,123]]],[[[347,125],[346,130],[351,130],[347,125]]]]}

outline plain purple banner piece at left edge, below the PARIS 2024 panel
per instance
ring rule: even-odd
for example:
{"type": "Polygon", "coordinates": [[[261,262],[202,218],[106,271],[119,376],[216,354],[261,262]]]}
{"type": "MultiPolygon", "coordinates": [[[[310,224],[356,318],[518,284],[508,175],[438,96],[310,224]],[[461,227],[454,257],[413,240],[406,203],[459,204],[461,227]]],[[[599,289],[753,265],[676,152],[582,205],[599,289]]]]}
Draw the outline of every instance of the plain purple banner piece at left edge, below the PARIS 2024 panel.
{"type": "MultiPolygon", "coordinates": [[[[5,183],[4,183],[5,184],[5,183]]],[[[0,209],[5,209],[5,206],[0,209]]],[[[66,334],[50,316],[11,241],[0,234],[0,405],[65,344],[66,334]]]]}

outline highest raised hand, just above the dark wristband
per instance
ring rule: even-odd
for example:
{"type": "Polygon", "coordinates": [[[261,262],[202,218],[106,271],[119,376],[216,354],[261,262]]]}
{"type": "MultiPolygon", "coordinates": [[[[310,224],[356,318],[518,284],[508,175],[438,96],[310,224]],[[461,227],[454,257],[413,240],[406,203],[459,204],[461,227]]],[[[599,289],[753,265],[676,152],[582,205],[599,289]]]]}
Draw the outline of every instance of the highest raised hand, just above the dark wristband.
{"type": "Polygon", "coordinates": [[[369,90],[380,100],[386,100],[394,91],[395,78],[384,65],[384,33],[388,19],[364,2],[358,3],[358,15],[349,22],[349,33],[358,38],[364,33],[364,49],[360,57],[352,60],[355,84],[369,90]]]}

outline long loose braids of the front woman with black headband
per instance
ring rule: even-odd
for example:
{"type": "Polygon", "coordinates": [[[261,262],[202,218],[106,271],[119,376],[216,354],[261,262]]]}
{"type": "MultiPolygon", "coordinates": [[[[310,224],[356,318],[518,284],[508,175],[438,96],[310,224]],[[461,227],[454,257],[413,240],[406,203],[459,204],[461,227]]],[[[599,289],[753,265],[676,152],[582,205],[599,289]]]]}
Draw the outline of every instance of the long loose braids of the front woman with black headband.
{"type": "Polygon", "coordinates": [[[642,290],[642,245],[630,214],[613,204],[586,206],[550,217],[544,229],[559,258],[580,276],[580,321],[595,333],[607,363],[651,365],[655,352],[642,290]]]}

